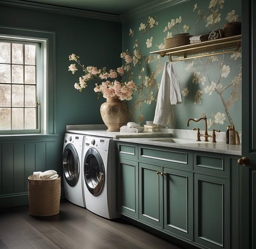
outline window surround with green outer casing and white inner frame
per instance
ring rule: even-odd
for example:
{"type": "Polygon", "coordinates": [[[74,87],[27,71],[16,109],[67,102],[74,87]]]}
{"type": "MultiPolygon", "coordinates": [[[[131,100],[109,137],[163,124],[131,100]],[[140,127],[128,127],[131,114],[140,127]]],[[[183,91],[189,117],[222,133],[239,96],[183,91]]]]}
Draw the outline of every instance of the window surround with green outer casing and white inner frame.
{"type": "Polygon", "coordinates": [[[55,70],[56,70],[56,34],[51,31],[38,31],[0,26],[0,37],[19,41],[35,41],[41,44],[41,96],[40,119],[41,129],[35,130],[1,130],[2,135],[48,135],[56,134],[55,125],[55,70]],[[17,132],[18,131],[18,132],[17,132]]]}

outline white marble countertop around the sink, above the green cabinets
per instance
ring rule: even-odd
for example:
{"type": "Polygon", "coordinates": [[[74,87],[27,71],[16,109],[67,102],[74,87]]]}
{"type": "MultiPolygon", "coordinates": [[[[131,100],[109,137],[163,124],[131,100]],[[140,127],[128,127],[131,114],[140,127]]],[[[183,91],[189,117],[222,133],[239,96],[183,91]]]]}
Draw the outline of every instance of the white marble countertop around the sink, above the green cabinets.
{"type": "MultiPolygon", "coordinates": [[[[222,153],[222,154],[230,154],[230,155],[241,155],[241,145],[232,145],[226,144],[223,142],[197,142],[195,139],[184,139],[184,138],[175,138],[179,140],[179,143],[169,143],[164,141],[157,141],[154,140],[157,138],[115,138],[116,141],[121,142],[129,142],[129,143],[137,143],[137,144],[148,144],[148,145],[155,145],[155,146],[163,146],[163,147],[171,147],[171,148],[180,148],[186,150],[196,150],[196,151],[206,151],[206,152],[215,152],[215,153],[222,153]],[[184,140],[184,143],[182,143],[184,140]],[[187,143],[188,141],[189,143],[187,143]],[[194,143],[193,143],[194,141],[194,143]]],[[[164,140],[164,139],[162,139],[164,140]]]]}

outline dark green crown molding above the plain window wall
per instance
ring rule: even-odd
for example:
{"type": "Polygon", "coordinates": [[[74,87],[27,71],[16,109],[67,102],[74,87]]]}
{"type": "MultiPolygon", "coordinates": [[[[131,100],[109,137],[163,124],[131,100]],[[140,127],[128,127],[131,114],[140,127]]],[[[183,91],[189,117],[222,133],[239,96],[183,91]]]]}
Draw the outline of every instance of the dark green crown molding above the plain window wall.
{"type": "Polygon", "coordinates": [[[71,7],[56,6],[56,5],[46,4],[46,3],[37,3],[37,2],[30,2],[30,1],[23,1],[23,0],[1,0],[0,5],[26,8],[26,9],[32,9],[32,10],[41,10],[41,11],[46,11],[46,12],[51,12],[56,14],[63,14],[63,15],[101,19],[101,20],[113,21],[113,22],[121,21],[120,15],[109,14],[109,13],[104,13],[99,11],[92,11],[92,10],[77,9],[77,8],[71,8],[71,7]]]}

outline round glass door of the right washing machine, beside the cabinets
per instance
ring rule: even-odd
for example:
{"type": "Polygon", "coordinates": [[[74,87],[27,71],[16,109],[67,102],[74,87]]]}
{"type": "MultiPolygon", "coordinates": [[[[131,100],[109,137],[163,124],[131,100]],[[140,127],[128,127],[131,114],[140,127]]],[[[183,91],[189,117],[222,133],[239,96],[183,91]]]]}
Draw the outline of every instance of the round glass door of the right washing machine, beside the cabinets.
{"type": "Polygon", "coordinates": [[[99,195],[102,192],[105,181],[104,163],[95,148],[90,148],[85,154],[84,179],[92,195],[99,195]]]}

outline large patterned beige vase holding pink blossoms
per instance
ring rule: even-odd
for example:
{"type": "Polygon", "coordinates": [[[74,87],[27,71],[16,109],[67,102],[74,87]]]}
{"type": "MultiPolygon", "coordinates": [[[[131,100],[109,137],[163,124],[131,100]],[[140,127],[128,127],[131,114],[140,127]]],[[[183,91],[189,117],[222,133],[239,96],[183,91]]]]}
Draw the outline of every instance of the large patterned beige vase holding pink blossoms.
{"type": "Polygon", "coordinates": [[[113,97],[101,105],[101,117],[107,126],[107,131],[120,131],[128,118],[128,105],[113,97]]]}

